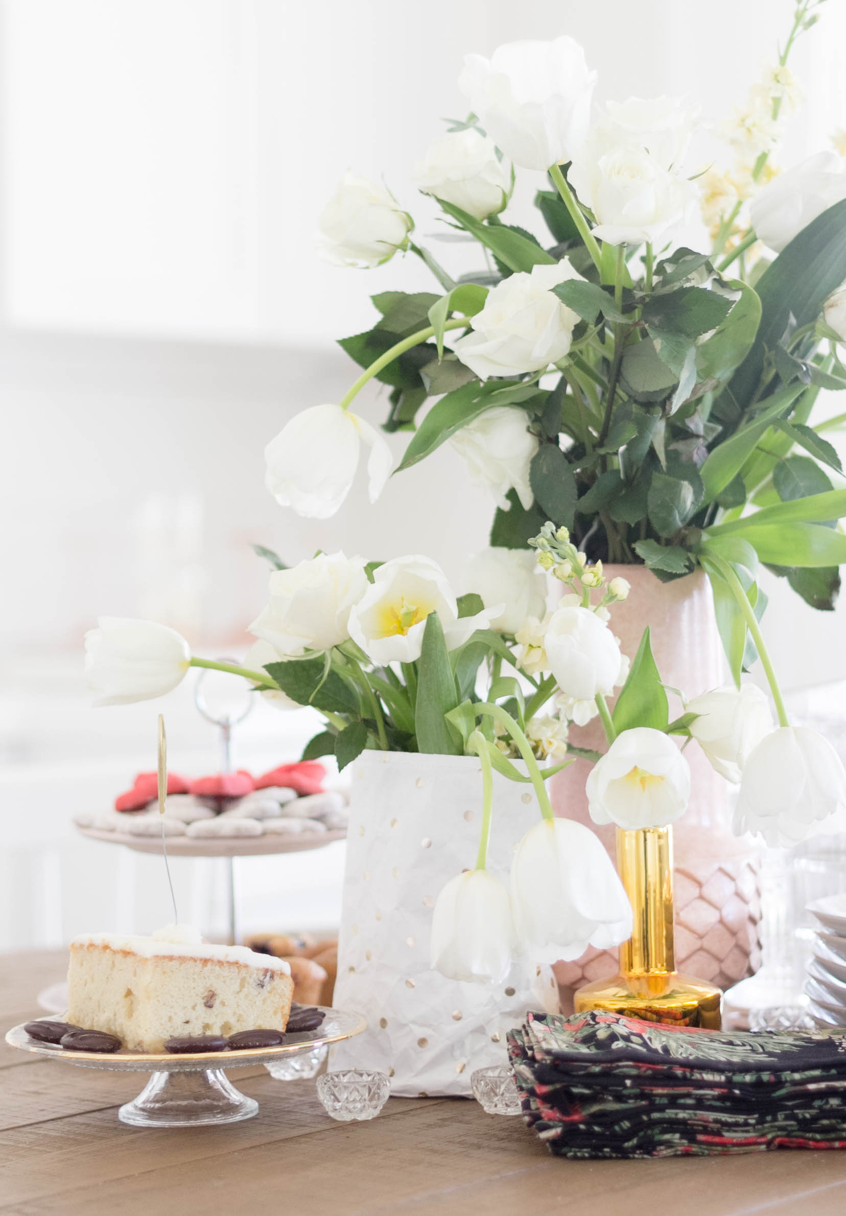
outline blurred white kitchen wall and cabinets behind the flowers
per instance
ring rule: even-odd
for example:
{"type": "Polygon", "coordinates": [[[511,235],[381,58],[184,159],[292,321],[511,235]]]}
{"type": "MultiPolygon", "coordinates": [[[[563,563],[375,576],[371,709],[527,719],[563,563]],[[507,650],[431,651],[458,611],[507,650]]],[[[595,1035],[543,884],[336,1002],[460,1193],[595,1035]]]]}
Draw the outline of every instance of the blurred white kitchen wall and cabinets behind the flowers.
{"type": "MultiPolygon", "coordinates": [[[[371,507],[304,520],[264,488],[264,445],[354,377],[334,339],[372,321],[368,295],[432,289],[416,260],[373,271],[321,263],[320,208],[349,167],[384,179],[449,269],[470,269],[411,180],[445,117],[464,117],[462,56],[518,38],[575,36],[597,101],[687,95],[694,153],[776,57],[791,0],[0,0],[0,948],[167,919],[158,858],[74,837],[154,767],[214,771],[218,743],[193,675],[162,703],[89,708],[83,635],[97,614],[148,617],[209,657],[239,654],[265,598],[252,542],[286,562],[318,547],[423,552],[461,581],[492,503],[441,447],[371,507]]],[[[791,60],[805,105],[779,161],[846,126],[846,5],[830,0],[791,60]]],[[[535,223],[541,175],[512,223],[535,223]]],[[[534,181],[532,178],[537,178],[534,181]]],[[[703,246],[704,230],[687,233],[703,246]]],[[[384,416],[377,392],[361,412],[384,416]]],[[[836,401],[823,402],[840,412],[836,401]]],[[[401,451],[406,437],[390,437],[401,451]]],[[[835,440],[836,441],[836,440],[835,440]]],[[[317,458],[317,454],[316,458],[317,458]]],[[[846,455],[846,452],[844,454],[846,455]]],[[[794,696],[846,677],[844,609],[814,613],[769,580],[765,625],[794,696]],[[797,644],[801,642],[801,644],[797,644]]],[[[690,689],[699,692],[700,689],[690,689]]],[[[236,760],[299,755],[310,713],[261,705],[236,760]]],[[[215,862],[180,860],[182,917],[221,931],[215,862]]],[[[239,862],[247,929],[337,922],[343,845],[239,862]]]]}

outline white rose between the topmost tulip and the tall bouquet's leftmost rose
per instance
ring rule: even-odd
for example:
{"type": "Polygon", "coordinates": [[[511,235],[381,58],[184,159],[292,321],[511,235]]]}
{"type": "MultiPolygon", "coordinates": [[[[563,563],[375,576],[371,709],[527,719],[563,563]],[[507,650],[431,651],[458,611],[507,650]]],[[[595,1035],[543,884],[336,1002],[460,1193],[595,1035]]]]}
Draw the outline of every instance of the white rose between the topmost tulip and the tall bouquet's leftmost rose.
{"type": "Polygon", "coordinates": [[[485,220],[498,215],[508,202],[511,174],[496,154],[496,145],[474,128],[441,135],[414,169],[424,195],[434,195],[485,220]]]}

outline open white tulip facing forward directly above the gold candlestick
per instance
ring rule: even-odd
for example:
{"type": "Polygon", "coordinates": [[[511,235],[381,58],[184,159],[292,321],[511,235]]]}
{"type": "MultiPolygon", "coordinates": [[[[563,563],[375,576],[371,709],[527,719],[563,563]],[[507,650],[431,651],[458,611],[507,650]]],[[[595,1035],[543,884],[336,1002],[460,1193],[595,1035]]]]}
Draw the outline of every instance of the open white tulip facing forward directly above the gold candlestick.
{"type": "Polygon", "coordinates": [[[587,778],[594,823],[627,832],[664,828],[683,815],[690,799],[690,769],[664,731],[637,726],[622,731],[587,778]]]}

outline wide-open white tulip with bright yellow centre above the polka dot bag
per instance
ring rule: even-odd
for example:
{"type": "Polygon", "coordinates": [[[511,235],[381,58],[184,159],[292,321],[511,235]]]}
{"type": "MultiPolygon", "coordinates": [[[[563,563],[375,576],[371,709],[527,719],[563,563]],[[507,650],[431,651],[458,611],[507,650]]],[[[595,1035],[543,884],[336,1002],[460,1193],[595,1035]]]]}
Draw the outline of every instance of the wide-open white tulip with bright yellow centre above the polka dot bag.
{"type": "Polygon", "coordinates": [[[350,613],[350,635],[373,663],[413,663],[421,657],[425,619],[433,612],[447,651],[463,646],[489,623],[486,612],[458,619],[452,587],[436,562],[395,557],[373,572],[373,582],[350,613]]]}

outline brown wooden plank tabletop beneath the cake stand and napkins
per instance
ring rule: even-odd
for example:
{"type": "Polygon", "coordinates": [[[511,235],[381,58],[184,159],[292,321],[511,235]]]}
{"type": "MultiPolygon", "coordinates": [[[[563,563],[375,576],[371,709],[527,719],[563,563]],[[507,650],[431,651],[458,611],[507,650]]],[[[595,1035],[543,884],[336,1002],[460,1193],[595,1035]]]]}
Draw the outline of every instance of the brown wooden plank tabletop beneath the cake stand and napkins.
{"type": "MultiPolygon", "coordinates": [[[[0,1029],[35,1017],[62,951],[0,956],[0,1029]]],[[[520,1119],[475,1102],[391,1098],[338,1124],[312,1081],[233,1074],[255,1119],[147,1131],[118,1122],[137,1074],[97,1073],[0,1047],[0,1216],[842,1216],[846,1153],[563,1161],[520,1119]]]]}

